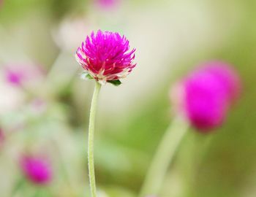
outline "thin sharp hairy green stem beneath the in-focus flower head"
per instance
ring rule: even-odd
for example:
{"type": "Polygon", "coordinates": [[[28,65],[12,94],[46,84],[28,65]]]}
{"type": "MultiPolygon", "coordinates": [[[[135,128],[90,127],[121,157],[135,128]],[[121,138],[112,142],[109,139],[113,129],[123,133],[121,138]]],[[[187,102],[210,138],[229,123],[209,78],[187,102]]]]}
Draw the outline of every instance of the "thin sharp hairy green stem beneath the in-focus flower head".
{"type": "Polygon", "coordinates": [[[97,111],[97,103],[99,98],[99,90],[101,85],[99,82],[95,83],[94,95],[91,99],[91,110],[89,118],[89,136],[88,136],[88,166],[89,166],[89,181],[91,187],[91,197],[97,197],[95,173],[94,173],[94,127],[95,115],[97,111]]]}

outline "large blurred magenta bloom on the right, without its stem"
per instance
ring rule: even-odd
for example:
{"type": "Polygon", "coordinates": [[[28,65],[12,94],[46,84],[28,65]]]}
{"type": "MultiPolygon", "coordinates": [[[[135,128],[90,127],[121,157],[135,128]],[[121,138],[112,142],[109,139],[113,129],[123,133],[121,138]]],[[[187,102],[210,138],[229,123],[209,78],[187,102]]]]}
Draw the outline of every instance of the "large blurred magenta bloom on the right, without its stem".
{"type": "Polygon", "coordinates": [[[207,132],[222,125],[230,105],[239,96],[241,82],[227,63],[211,61],[189,74],[173,90],[176,96],[172,98],[176,98],[179,112],[199,131],[207,132]]]}

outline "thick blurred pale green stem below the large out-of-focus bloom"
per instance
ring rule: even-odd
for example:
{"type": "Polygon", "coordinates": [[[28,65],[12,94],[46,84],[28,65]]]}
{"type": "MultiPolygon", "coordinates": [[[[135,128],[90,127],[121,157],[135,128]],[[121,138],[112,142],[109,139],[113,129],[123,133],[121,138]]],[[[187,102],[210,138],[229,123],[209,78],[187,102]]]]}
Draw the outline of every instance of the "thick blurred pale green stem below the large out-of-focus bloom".
{"type": "Polygon", "coordinates": [[[188,124],[181,117],[176,117],[176,119],[170,123],[151,161],[146,179],[140,190],[140,197],[157,195],[159,193],[168,166],[172,163],[176,149],[178,145],[181,144],[181,140],[187,133],[188,128],[188,124]]]}

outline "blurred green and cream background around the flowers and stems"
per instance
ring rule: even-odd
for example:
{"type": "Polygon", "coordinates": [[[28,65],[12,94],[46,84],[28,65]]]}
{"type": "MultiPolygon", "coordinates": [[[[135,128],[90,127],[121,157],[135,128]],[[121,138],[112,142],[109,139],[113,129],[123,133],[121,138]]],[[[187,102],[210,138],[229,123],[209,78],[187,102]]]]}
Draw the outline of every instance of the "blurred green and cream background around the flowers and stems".
{"type": "Polygon", "coordinates": [[[216,132],[190,129],[160,197],[256,196],[255,11],[255,0],[1,0],[0,196],[89,196],[94,82],[80,80],[74,54],[98,29],[125,34],[138,63],[123,85],[105,85],[100,93],[95,163],[101,196],[138,195],[173,118],[170,86],[208,60],[236,67],[241,99],[216,132]],[[26,81],[8,82],[8,69],[26,81]],[[48,158],[48,185],[23,176],[23,154],[48,158]]]}

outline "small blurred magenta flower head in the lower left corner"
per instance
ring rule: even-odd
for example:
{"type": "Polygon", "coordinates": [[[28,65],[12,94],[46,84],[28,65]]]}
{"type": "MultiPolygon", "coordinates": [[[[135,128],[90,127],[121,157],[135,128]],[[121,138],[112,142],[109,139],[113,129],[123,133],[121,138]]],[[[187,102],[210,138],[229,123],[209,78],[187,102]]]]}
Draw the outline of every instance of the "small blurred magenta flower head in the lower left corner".
{"type": "Polygon", "coordinates": [[[52,179],[50,163],[45,158],[24,155],[20,160],[23,174],[36,185],[46,185],[52,179]]]}

